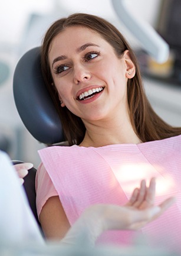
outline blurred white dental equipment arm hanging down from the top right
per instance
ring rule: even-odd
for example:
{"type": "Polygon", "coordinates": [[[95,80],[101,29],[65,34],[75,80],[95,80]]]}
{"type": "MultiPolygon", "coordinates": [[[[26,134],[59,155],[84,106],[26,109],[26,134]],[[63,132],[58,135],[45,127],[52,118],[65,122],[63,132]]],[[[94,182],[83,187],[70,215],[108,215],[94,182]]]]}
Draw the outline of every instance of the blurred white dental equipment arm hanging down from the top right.
{"type": "Polygon", "coordinates": [[[140,20],[130,11],[129,0],[111,0],[114,11],[126,25],[141,46],[158,63],[164,63],[169,57],[169,45],[147,22],[140,20]]]}

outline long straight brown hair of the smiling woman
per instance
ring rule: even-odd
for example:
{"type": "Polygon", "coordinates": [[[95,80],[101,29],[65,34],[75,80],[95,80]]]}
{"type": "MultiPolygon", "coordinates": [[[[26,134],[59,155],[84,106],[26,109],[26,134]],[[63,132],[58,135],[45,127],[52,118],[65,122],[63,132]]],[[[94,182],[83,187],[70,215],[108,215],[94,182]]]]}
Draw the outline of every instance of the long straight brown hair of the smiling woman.
{"type": "Polygon", "coordinates": [[[145,95],[139,66],[133,50],[123,35],[110,22],[103,18],[90,14],[73,14],[67,18],[61,18],[54,22],[45,34],[41,47],[41,67],[45,84],[54,101],[55,108],[60,115],[65,138],[70,145],[80,144],[85,135],[85,126],[78,116],[71,113],[66,106],[60,107],[60,100],[55,86],[52,86],[48,52],[52,39],[67,27],[83,26],[96,31],[113,48],[118,57],[121,57],[125,50],[129,50],[131,60],[136,67],[136,74],[127,82],[127,99],[130,109],[130,119],[134,131],[141,141],[161,140],[181,134],[181,128],[172,127],[166,124],[153,110],[145,95]]]}

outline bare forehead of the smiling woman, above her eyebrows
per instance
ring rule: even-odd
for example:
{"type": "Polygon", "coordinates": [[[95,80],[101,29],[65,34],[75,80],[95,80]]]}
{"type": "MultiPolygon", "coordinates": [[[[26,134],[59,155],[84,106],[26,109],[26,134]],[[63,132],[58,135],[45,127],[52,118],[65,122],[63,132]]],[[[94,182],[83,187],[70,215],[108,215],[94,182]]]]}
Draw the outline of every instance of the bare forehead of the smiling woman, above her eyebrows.
{"type": "Polygon", "coordinates": [[[100,34],[89,28],[81,26],[68,27],[54,37],[51,42],[49,54],[52,55],[57,50],[60,50],[62,51],[62,54],[65,54],[75,50],[85,43],[108,44],[100,34]]]}

